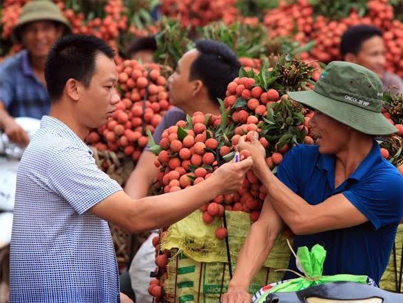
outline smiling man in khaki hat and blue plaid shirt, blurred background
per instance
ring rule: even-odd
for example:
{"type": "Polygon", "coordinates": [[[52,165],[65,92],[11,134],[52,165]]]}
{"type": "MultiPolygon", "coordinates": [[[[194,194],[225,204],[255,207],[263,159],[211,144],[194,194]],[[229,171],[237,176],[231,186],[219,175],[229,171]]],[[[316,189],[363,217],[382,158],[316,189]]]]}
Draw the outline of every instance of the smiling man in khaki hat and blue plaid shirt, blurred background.
{"type": "Polygon", "coordinates": [[[15,117],[41,119],[48,114],[45,58],[54,41],[68,32],[68,21],[51,1],[36,0],[23,6],[13,36],[25,50],[0,65],[0,129],[11,141],[28,144],[29,140],[15,117]]]}

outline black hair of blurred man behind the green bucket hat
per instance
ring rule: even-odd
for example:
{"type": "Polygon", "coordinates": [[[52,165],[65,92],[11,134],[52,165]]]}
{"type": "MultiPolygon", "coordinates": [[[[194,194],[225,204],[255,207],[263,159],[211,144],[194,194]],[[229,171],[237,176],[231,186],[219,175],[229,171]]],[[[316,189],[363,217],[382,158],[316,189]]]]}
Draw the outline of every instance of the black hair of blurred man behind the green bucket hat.
{"type": "Polygon", "coordinates": [[[340,55],[342,55],[343,59],[349,52],[358,55],[362,43],[375,36],[382,37],[382,31],[375,26],[360,24],[347,28],[340,42],[340,55]]]}

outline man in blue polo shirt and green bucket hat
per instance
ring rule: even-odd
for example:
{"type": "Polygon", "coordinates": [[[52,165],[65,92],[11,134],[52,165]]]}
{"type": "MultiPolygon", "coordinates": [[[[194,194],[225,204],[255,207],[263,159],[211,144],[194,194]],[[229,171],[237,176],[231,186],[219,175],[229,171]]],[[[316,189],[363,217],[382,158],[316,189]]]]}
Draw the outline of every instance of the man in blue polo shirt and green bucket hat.
{"type": "MultiPolygon", "coordinates": [[[[323,275],[368,275],[379,283],[389,261],[403,215],[403,177],[373,139],[397,131],[381,113],[382,82],[362,66],[333,61],[313,90],[288,94],[316,110],[310,126],[317,145],[292,148],[277,178],[259,141],[240,139],[238,148],[251,151],[267,198],[224,303],[250,302],[251,279],[285,224],[296,234],[294,248],[324,246],[323,275]]],[[[298,271],[294,257],[289,269],[298,271]]]]}

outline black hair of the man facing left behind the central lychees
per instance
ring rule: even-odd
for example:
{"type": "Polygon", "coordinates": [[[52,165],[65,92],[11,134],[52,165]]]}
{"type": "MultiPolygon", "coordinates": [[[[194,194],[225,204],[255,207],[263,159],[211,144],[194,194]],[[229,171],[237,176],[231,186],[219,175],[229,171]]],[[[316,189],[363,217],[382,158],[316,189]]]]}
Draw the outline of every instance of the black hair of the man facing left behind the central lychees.
{"type": "Polygon", "coordinates": [[[189,80],[200,79],[207,88],[209,98],[224,99],[229,82],[238,77],[240,63],[225,43],[213,40],[196,41],[200,52],[190,67],[189,80]]]}

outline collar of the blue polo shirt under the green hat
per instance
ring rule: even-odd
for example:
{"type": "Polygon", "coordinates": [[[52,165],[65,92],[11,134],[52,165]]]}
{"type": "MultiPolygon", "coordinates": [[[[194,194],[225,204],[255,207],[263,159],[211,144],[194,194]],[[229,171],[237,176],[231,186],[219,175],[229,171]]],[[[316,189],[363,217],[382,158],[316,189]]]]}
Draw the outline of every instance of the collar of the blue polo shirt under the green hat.
{"type": "MultiPolygon", "coordinates": [[[[375,165],[376,162],[382,160],[380,154],[380,146],[376,141],[373,141],[373,146],[368,155],[364,158],[361,164],[356,168],[353,174],[347,179],[360,180],[366,173],[375,165]]],[[[317,166],[320,170],[326,170],[328,173],[334,173],[335,156],[334,155],[320,155],[317,166]]]]}

